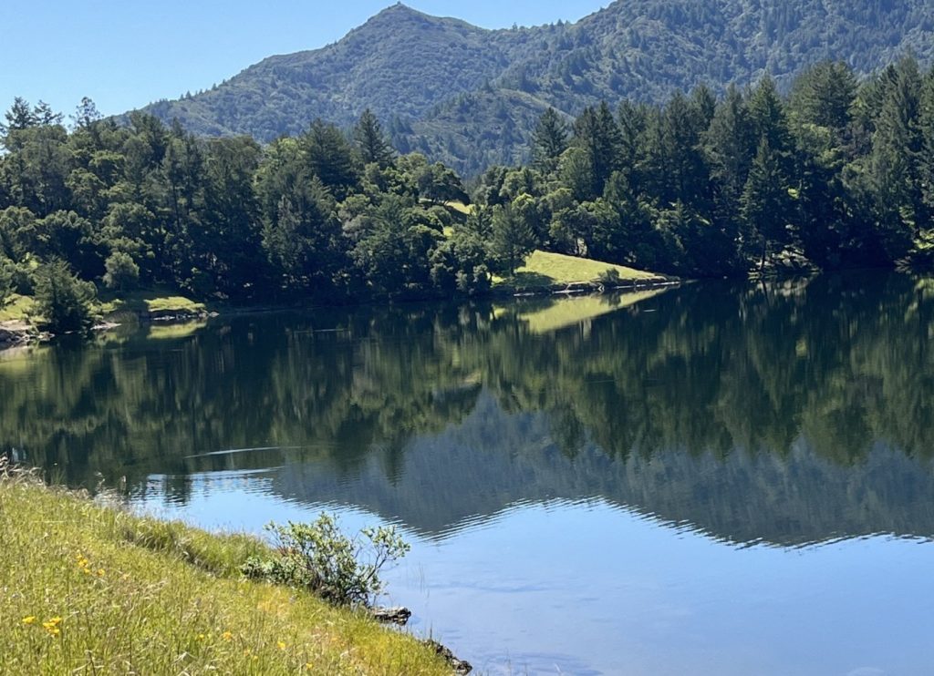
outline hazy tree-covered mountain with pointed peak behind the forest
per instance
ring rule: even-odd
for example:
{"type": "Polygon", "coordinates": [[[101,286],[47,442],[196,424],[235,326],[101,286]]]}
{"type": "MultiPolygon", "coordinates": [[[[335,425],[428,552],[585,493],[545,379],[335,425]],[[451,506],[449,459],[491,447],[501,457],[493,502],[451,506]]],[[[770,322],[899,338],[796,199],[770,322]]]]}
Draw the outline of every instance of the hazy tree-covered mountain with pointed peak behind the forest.
{"type": "Polygon", "coordinates": [[[934,56],[927,0],[617,0],[576,23],[489,31],[389,7],[325,48],[274,56],[211,90],[147,110],[201,134],[269,141],[365,108],[403,152],[475,173],[528,156],[549,105],[660,102],[701,82],[780,83],[823,60],[860,75],[934,56]]]}

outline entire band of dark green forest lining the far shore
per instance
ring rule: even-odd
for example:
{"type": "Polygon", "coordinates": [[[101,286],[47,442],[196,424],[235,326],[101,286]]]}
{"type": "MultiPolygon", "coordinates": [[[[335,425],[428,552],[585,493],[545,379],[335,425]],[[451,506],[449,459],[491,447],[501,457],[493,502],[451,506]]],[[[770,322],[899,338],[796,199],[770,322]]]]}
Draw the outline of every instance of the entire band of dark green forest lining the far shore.
{"type": "Polygon", "coordinates": [[[142,113],[120,126],[90,101],[70,132],[41,103],[6,118],[0,297],[449,297],[534,249],[684,276],[921,267],[934,251],[934,72],[912,57],[862,82],[824,62],[787,97],[765,77],[719,99],[549,109],[531,165],[489,169],[470,209],[452,170],[397,155],[368,111],[350,134],[318,120],[265,146],[142,113]]]}

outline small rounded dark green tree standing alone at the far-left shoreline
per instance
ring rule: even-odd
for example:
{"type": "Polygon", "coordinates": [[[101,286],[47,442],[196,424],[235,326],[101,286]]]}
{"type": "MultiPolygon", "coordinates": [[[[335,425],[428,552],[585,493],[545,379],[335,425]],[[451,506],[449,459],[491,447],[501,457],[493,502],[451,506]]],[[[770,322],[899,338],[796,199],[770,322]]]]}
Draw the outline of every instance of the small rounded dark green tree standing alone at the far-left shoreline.
{"type": "Polygon", "coordinates": [[[88,329],[96,293],[94,285],[79,280],[64,260],[53,260],[35,273],[35,302],[52,333],[88,329]]]}

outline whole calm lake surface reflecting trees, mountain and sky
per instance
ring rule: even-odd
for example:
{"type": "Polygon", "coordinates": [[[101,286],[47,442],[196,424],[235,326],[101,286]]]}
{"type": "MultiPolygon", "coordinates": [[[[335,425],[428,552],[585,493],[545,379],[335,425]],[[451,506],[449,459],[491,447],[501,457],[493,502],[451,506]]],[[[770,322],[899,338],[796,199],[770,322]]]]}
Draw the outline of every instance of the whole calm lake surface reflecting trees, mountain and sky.
{"type": "Polygon", "coordinates": [[[492,674],[934,672],[934,281],[283,312],[0,353],[0,449],[211,529],[396,524],[492,674]]]}

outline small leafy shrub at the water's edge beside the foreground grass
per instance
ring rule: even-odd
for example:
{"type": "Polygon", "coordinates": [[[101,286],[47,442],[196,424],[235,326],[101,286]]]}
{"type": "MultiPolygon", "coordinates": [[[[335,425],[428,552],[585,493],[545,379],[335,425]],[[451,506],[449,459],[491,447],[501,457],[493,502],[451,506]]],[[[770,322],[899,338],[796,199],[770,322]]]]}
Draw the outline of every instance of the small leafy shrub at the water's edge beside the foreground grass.
{"type": "Polygon", "coordinates": [[[276,556],[251,557],[243,573],[277,585],[304,587],[334,605],[371,605],[383,590],[379,571],[409,550],[395,528],[363,529],[351,539],[328,514],[307,524],[271,523],[266,530],[274,534],[276,556]]]}

